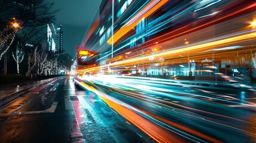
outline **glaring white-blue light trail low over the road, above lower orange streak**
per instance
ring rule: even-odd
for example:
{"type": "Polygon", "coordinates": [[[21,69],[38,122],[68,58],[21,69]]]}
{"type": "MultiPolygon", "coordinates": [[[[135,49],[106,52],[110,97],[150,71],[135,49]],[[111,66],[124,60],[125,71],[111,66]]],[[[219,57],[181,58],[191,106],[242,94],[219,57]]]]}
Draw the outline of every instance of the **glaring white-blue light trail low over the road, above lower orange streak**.
{"type": "MultiPolygon", "coordinates": [[[[175,98],[175,99],[183,100],[183,101],[208,102],[208,101],[202,101],[200,99],[196,99],[196,100],[198,100],[198,101],[196,101],[194,98],[191,98],[191,97],[181,97],[181,96],[173,95],[173,94],[183,94],[184,96],[186,96],[186,95],[193,95],[193,96],[197,96],[197,97],[212,98],[212,99],[215,99],[215,100],[230,102],[228,100],[222,100],[220,98],[214,98],[214,97],[207,97],[205,95],[198,95],[198,94],[194,94],[194,93],[190,93],[190,92],[187,93],[187,92],[175,91],[175,90],[172,90],[172,89],[155,88],[155,86],[160,86],[160,85],[165,85],[165,84],[166,85],[174,85],[174,86],[183,85],[183,84],[180,84],[180,83],[172,84],[172,83],[169,82],[170,80],[167,80],[167,79],[166,79],[166,82],[158,82],[157,81],[158,79],[152,79],[152,78],[147,78],[147,77],[137,77],[138,79],[141,79],[141,80],[143,79],[143,82],[138,82],[138,80],[132,79],[131,77],[126,77],[128,80],[125,80],[124,77],[123,77],[122,80],[119,80],[119,79],[116,79],[116,77],[118,77],[118,76],[110,76],[110,77],[108,77],[108,76],[101,76],[99,78],[94,78],[90,82],[92,83],[92,82],[96,81],[96,83],[102,85],[100,82],[97,82],[97,81],[104,80],[105,84],[103,84],[103,86],[109,86],[110,88],[114,88],[114,89],[118,90],[119,93],[125,93],[125,94],[129,94],[129,95],[134,95],[134,93],[127,92],[127,91],[125,91],[123,89],[131,90],[131,91],[142,91],[145,94],[155,93],[157,95],[160,94],[160,95],[163,95],[163,96],[168,97],[168,98],[175,98]],[[109,82],[111,84],[107,85],[106,82],[109,82]],[[141,86],[138,86],[138,85],[147,85],[149,87],[147,87],[146,89],[143,89],[143,88],[141,88],[141,86]],[[158,90],[156,90],[156,89],[158,89],[158,90]],[[171,94],[166,94],[165,92],[169,92],[171,94]]],[[[162,80],[162,79],[159,79],[159,80],[162,80]]],[[[194,88],[194,89],[196,89],[196,88],[194,88]]],[[[178,107],[186,108],[188,110],[200,111],[202,113],[212,114],[212,115],[215,115],[215,116],[221,116],[221,117],[225,117],[227,119],[237,120],[239,122],[245,122],[244,120],[236,119],[236,118],[229,117],[229,116],[224,116],[224,115],[221,115],[221,114],[211,113],[211,112],[208,112],[208,111],[198,110],[198,109],[195,109],[195,108],[186,107],[186,106],[183,106],[183,105],[180,105],[180,104],[176,104],[176,103],[173,103],[173,102],[155,99],[155,98],[152,98],[152,97],[149,97],[149,96],[146,96],[146,95],[141,95],[141,94],[135,94],[135,95],[141,97],[141,99],[150,98],[151,100],[157,100],[157,101],[165,102],[165,103],[172,104],[172,105],[175,105],[175,106],[178,106],[178,107]]],[[[213,95],[215,95],[215,94],[213,94],[213,95]]],[[[158,102],[155,102],[155,103],[158,104],[158,102]]],[[[240,102],[232,102],[232,101],[230,103],[242,104],[240,102]]],[[[245,104],[245,105],[255,107],[255,105],[252,102],[248,102],[248,104],[245,104]]]]}

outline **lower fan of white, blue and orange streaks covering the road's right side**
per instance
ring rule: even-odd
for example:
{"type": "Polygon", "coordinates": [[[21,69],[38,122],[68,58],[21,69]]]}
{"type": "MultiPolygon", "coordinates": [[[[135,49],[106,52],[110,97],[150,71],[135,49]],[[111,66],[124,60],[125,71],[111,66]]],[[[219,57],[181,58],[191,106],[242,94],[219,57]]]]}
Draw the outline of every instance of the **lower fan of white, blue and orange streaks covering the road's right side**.
{"type": "Polygon", "coordinates": [[[255,141],[251,89],[103,75],[76,82],[159,142],[255,141]]]}

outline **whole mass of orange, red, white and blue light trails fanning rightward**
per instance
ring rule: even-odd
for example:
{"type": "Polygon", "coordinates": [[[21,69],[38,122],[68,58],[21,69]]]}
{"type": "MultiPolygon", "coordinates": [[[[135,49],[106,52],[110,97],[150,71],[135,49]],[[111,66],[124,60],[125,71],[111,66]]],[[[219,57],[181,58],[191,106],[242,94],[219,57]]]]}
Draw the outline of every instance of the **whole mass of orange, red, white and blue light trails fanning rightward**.
{"type": "MultiPolygon", "coordinates": [[[[77,71],[93,74],[99,71],[104,74],[122,74],[119,69],[127,67],[130,71],[136,70],[136,73],[138,70],[141,73],[152,72],[153,74],[153,70],[155,72],[155,69],[158,69],[158,76],[160,76],[161,73],[164,73],[164,70],[166,72],[168,68],[180,66],[182,70],[179,69],[179,72],[183,72],[182,75],[184,75],[191,66],[190,60],[195,60],[196,63],[203,65],[204,59],[209,57],[208,59],[211,58],[212,61],[207,62],[212,63],[206,63],[209,64],[209,66],[205,66],[208,69],[193,71],[211,71],[211,73],[219,74],[218,66],[211,66],[211,64],[214,65],[215,61],[219,65],[221,63],[221,67],[223,67],[222,59],[251,58],[253,55],[249,54],[256,52],[256,29],[253,24],[246,23],[254,18],[256,2],[196,1],[190,4],[185,3],[180,7],[175,5],[173,9],[170,6],[172,5],[171,2],[168,3],[170,5],[165,5],[166,3],[167,1],[159,0],[147,1],[141,11],[132,12],[131,16],[125,15],[130,14],[128,10],[125,11],[122,18],[128,17],[127,20],[122,22],[122,18],[119,17],[115,22],[116,27],[122,26],[122,24],[124,26],[120,29],[118,29],[119,27],[112,29],[116,30],[114,35],[99,48],[98,42],[92,45],[93,48],[98,48],[99,51],[101,49],[105,50],[104,54],[101,54],[97,60],[106,65],[81,68],[77,71]],[[169,7],[169,9],[166,7],[169,7]],[[158,13],[160,8],[162,8],[162,13],[158,13]],[[153,19],[147,19],[155,12],[159,15],[153,15],[153,19]],[[188,14],[193,14],[192,18],[188,14]],[[142,19],[145,21],[142,21],[142,19]],[[151,25],[149,24],[146,27],[146,23],[149,21],[151,25]],[[135,27],[138,28],[139,26],[138,23],[143,22],[145,22],[145,29],[135,30],[135,27]],[[133,28],[134,30],[132,30],[133,28]],[[158,33],[155,38],[140,42],[140,40],[143,41],[143,38],[146,39],[147,36],[155,35],[155,33],[158,33]],[[135,42],[133,39],[135,39],[135,42]],[[186,42],[184,42],[184,39],[186,39],[186,42]],[[113,46],[114,43],[115,46],[113,46]],[[110,48],[107,44],[112,45],[111,53],[106,52],[110,48]],[[161,46],[162,49],[157,52],[153,51],[157,46],[161,46]],[[140,49],[147,49],[147,52],[138,52],[140,49]],[[135,54],[135,52],[138,52],[138,54],[135,54]],[[119,57],[104,60],[113,53],[119,55],[119,57]],[[127,57],[125,57],[126,53],[129,53],[127,57]],[[139,66],[143,66],[143,71],[141,67],[139,69],[139,66]],[[150,69],[150,71],[144,70],[144,67],[150,69]],[[215,67],[215,69],[212,69],[212,67],[215,67]],[[183,71],[183,68],[186,68],[187,71],[183,71]]],[[[168,69],[167,72],[169,71],[171,69],[168,69]]],[[[147,73],[146,75],[149,76],[147,73]]],[[[175,76],[174,74],[173,76],[175,76]]],[[[221,94],[221,92],[218,94],[218,92],[213,91],[213,89],[218,89],[217,87],[210,89],[202,86],[186,85],[168,79],[148,77],[132,77],[130,79],[130,77],[125,76],[103,76],[101,74],[83,79],[88,81],[79,83],[81,86],[97,94],[101,100],[113,108],[115,113],[125,117],[128,120],[127,123],[134,124],[158,142],[168,141],[168,138],[176,139],[178,136],[196,142],[205,142],[203,139],[220,142],[217,133],[211,133],[211,130],[215,132],[218,129],[235,130],[252,136],[256,135],[253,132],[248,132],[249,127],[245,126],[248,124],[246,118],[235,115],[235,109],[231,108],[255,108],[256,104],[244,100],[238,95],[234,95],[237,97],[230,97],[227,94],[221,94]],[[103,88],[100,88],[102,86],[103,88]],[[169,88],[169,86],[175,88],[169,88]],[[182,91],[182,88],[189,89],[182,91]],[[129,99],[137,103],[132,103],[129,99]],[[147,107],[149,109],[146,109],[147,107]],[[224,111],[218,110],[231,111],[232,113],[225,114],[224,111]],[[196,123],[185,123],[190,120],[196,123]],[[197,124],[198,122],[202,125],[197,124]],[[149,126],[145,124],[149,124],[149,126]],[[214,127],[211,128],[211,126],[214,127]],[[156,128],[155,132],[152,132],[153,128],[156,128]],[[168,133],[162,134],[163,132],[171,132],[171,135],[168,133]]],[[[237,87],[239,85],[230,83],[229,86],[237,87]]],[[[249,90],[249,86],[245,86],[245,89],[249,90]]],[[[236,109],[241,112],[241,108],[236,109]]],[[[221,130],[221,132],[223,131],[221,130]]],[[[223,135],[224,133],[226,132],[223,132],[223,135]]],[[[174,140],[171,140],[171,142],[174,142],[174,140]]]]}

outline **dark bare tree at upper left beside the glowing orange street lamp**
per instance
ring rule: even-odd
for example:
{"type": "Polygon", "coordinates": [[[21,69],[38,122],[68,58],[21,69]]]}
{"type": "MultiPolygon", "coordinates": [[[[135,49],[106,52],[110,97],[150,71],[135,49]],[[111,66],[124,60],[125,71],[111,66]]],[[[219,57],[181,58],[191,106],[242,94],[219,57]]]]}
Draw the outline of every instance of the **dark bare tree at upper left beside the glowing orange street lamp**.
{"type": "MultiPolygon", "coordinates": [[[[54,13],[57,12],[51,10],[52,7],[53,3],[45,3],[44,0],[2,0],[0,2],[0,36],[5,36],[1,34],[1,32],[4,33],[5,26],[10,24],[11,18],[15,17],[14,21],[20,25],[18,32],[15,33],[16,40],[19,42],[18,51],[24,51],[29,68],[35,67],[33,65],[36,63],[33,63],[33,61],[36,61],[34,60],[36,57],[31,58],[30,56],[35,55],[36,52],[33,51],[32,53],[31,50],[27,50],[25,45],[27,43],[35,45],[33,48],[36,49],[36,45],[45,39],[47,35],[47,30],[45,30],[47,29],[47,24],[54,23],[54,13]],[[31,63],[33,63],[32,66],[30,65],[31,63]]],[[[8,48],[14,53],[17,51],[17,46],[2,46],[2,43],[8,39],[9,38],[1,38],[1,57],[8,48]]],[[[27,73],[30,73],[31,70],[32,69],[28,69],[27,73]]]]}

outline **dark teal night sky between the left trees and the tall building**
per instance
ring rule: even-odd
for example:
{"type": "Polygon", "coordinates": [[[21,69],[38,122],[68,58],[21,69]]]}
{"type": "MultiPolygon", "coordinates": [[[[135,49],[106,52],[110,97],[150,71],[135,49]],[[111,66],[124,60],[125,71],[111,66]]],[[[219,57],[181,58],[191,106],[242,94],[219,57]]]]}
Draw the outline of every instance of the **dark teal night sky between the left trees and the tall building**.
{"type": "Polygon", "coordinates": [[[46,0],[53,2],[53,10],[60,10],[56,15],[57,25],[63,27],[63,49],[72,57],[75,46],[80,45],[85,33],[97,13],[101,0],[46,0]]]}

